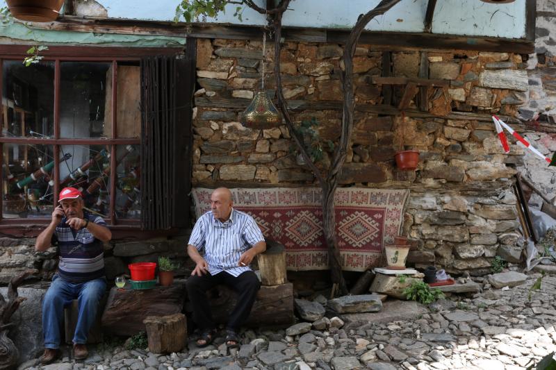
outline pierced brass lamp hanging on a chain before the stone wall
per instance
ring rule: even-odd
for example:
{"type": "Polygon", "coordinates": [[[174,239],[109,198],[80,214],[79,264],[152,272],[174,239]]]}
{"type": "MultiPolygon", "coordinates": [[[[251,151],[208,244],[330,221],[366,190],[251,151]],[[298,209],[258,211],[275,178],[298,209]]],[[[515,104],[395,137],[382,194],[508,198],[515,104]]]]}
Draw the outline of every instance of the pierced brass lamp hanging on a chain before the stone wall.
{"type": "Polygon", "coordinates": [[[255,92],[251,103],[240,115],[240,122],[247,128],[264,129],[281,124],[278,108],[265,91],[266,32],[263,31],[263,58],[261,60],[261,90],[255,92]]]}

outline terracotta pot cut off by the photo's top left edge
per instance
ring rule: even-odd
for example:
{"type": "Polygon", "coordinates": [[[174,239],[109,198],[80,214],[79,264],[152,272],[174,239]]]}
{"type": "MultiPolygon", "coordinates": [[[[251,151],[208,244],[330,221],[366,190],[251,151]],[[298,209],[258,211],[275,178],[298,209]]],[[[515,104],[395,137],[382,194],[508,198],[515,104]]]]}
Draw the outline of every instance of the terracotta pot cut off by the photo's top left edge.
{"type": "Polygon", "coordinates": [[[64,0],[6,0],[14,18],[27,22],[52,22],[60,15],[64,0]]]}

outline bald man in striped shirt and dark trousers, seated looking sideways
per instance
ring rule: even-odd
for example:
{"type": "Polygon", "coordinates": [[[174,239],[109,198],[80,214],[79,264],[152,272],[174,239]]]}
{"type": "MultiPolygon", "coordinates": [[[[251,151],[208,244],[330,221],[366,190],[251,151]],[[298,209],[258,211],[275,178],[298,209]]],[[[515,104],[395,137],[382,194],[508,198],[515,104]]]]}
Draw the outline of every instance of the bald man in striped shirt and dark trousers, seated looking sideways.
{"type": "Polygon", "coordinates": [[[226,326],[226,344],[237,348],[237,331],[251,312],[259,279],[250,268],[253,258],[266,250],[265,239],[255,220],[245,212],[234,210],[229,189],[219,187],[211,194],[211,210],[199,217],[187,246],[195,269],[186,287],[193,305],[193,321],[201,331],[197,346],[211,344],[215,324],[206,291],[224,284],[238,294],[226,326]],[[199,251],[204,249],[204,256],[199,251]]]}

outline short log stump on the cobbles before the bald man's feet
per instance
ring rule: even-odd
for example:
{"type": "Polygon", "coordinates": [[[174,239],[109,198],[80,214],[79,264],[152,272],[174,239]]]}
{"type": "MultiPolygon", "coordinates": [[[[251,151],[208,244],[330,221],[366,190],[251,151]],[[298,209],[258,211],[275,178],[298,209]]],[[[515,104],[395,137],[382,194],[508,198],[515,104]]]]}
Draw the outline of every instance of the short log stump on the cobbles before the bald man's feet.
{"type": "Polygon", "coordinates": [[[179,352],[186,346],[187,321],[184,314],[149,316],[143,320],[152,353],[179,352]]]}

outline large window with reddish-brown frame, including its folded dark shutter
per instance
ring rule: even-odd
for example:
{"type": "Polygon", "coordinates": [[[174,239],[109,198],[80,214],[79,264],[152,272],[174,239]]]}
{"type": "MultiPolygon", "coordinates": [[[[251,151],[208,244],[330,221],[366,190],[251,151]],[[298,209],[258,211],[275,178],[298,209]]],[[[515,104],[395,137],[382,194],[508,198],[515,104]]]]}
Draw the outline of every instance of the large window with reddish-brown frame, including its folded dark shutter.
{"type": "Polygon", "coordinates": [[[184,92],[193,87],[176,88],[191,83],[179,80],[186,60],[49,55],[0,65],[1,224],[49,221],[67,186],[113,226],[186,224],[188,202],[175,198],[189,186],[189,176],[176,176],[189,168],[184,92]]]}

